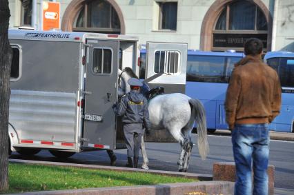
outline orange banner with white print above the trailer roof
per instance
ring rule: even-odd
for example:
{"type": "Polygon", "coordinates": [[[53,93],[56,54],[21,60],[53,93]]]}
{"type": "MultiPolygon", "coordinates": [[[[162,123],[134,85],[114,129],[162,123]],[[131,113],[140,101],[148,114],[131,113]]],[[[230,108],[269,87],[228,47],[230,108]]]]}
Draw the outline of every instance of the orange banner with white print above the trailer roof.
{"type": "Polygon", "coordinates": [[[60,28],[60,3],[43,1],[43,30],[60,28]]]}

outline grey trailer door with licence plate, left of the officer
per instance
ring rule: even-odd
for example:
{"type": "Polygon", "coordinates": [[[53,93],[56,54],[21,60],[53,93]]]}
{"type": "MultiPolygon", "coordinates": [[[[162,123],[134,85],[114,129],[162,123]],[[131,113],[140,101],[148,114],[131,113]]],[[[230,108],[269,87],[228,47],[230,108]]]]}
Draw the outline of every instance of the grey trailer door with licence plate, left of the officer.
{"type": "Polygon", "coordinates": [[[88,39],[84,107],[84,147],[115,149],[112,105],[117,101],[119,42],[88,39]]]}

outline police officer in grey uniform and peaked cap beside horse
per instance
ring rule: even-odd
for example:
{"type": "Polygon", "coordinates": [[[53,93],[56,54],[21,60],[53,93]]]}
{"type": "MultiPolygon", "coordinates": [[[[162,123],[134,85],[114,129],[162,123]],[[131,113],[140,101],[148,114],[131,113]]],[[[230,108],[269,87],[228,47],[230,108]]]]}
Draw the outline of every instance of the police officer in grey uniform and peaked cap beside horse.
{"type": "Polygon", "coordinates": [[[124,123],[124,138],[128,149],[127,167],[137,168],[143,124],[149,130],[149,112],[147,99],[139,93],[143,85],[139,79],[128,80],[130,92],[121,97],[119,105],[114,105],[117,115],[122,116],[124,123]]]}

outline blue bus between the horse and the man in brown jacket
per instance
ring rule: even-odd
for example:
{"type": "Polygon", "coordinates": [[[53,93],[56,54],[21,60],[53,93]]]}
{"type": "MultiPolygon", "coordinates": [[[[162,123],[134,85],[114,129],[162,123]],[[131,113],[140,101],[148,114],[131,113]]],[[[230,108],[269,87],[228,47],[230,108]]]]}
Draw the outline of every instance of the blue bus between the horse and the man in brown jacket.
{"type": "Polygon", "coordinates": [[[242,57],[244,54],[237,52],[188,51],[186,95],[204,104],[208,132],[228,129],[226,89],[234,64],[242,57]]]}

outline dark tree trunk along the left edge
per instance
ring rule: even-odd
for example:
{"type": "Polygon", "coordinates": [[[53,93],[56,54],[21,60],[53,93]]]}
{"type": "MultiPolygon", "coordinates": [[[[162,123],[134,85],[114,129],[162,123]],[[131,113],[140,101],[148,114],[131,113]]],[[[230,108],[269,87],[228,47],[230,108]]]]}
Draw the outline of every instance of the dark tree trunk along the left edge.
{"type": "Polygon", "coordinates": [[[12,48],[8,41],[10,10],[8,0],[0,0],[0,192],[8,189],[8,112],[12,48]]]}

